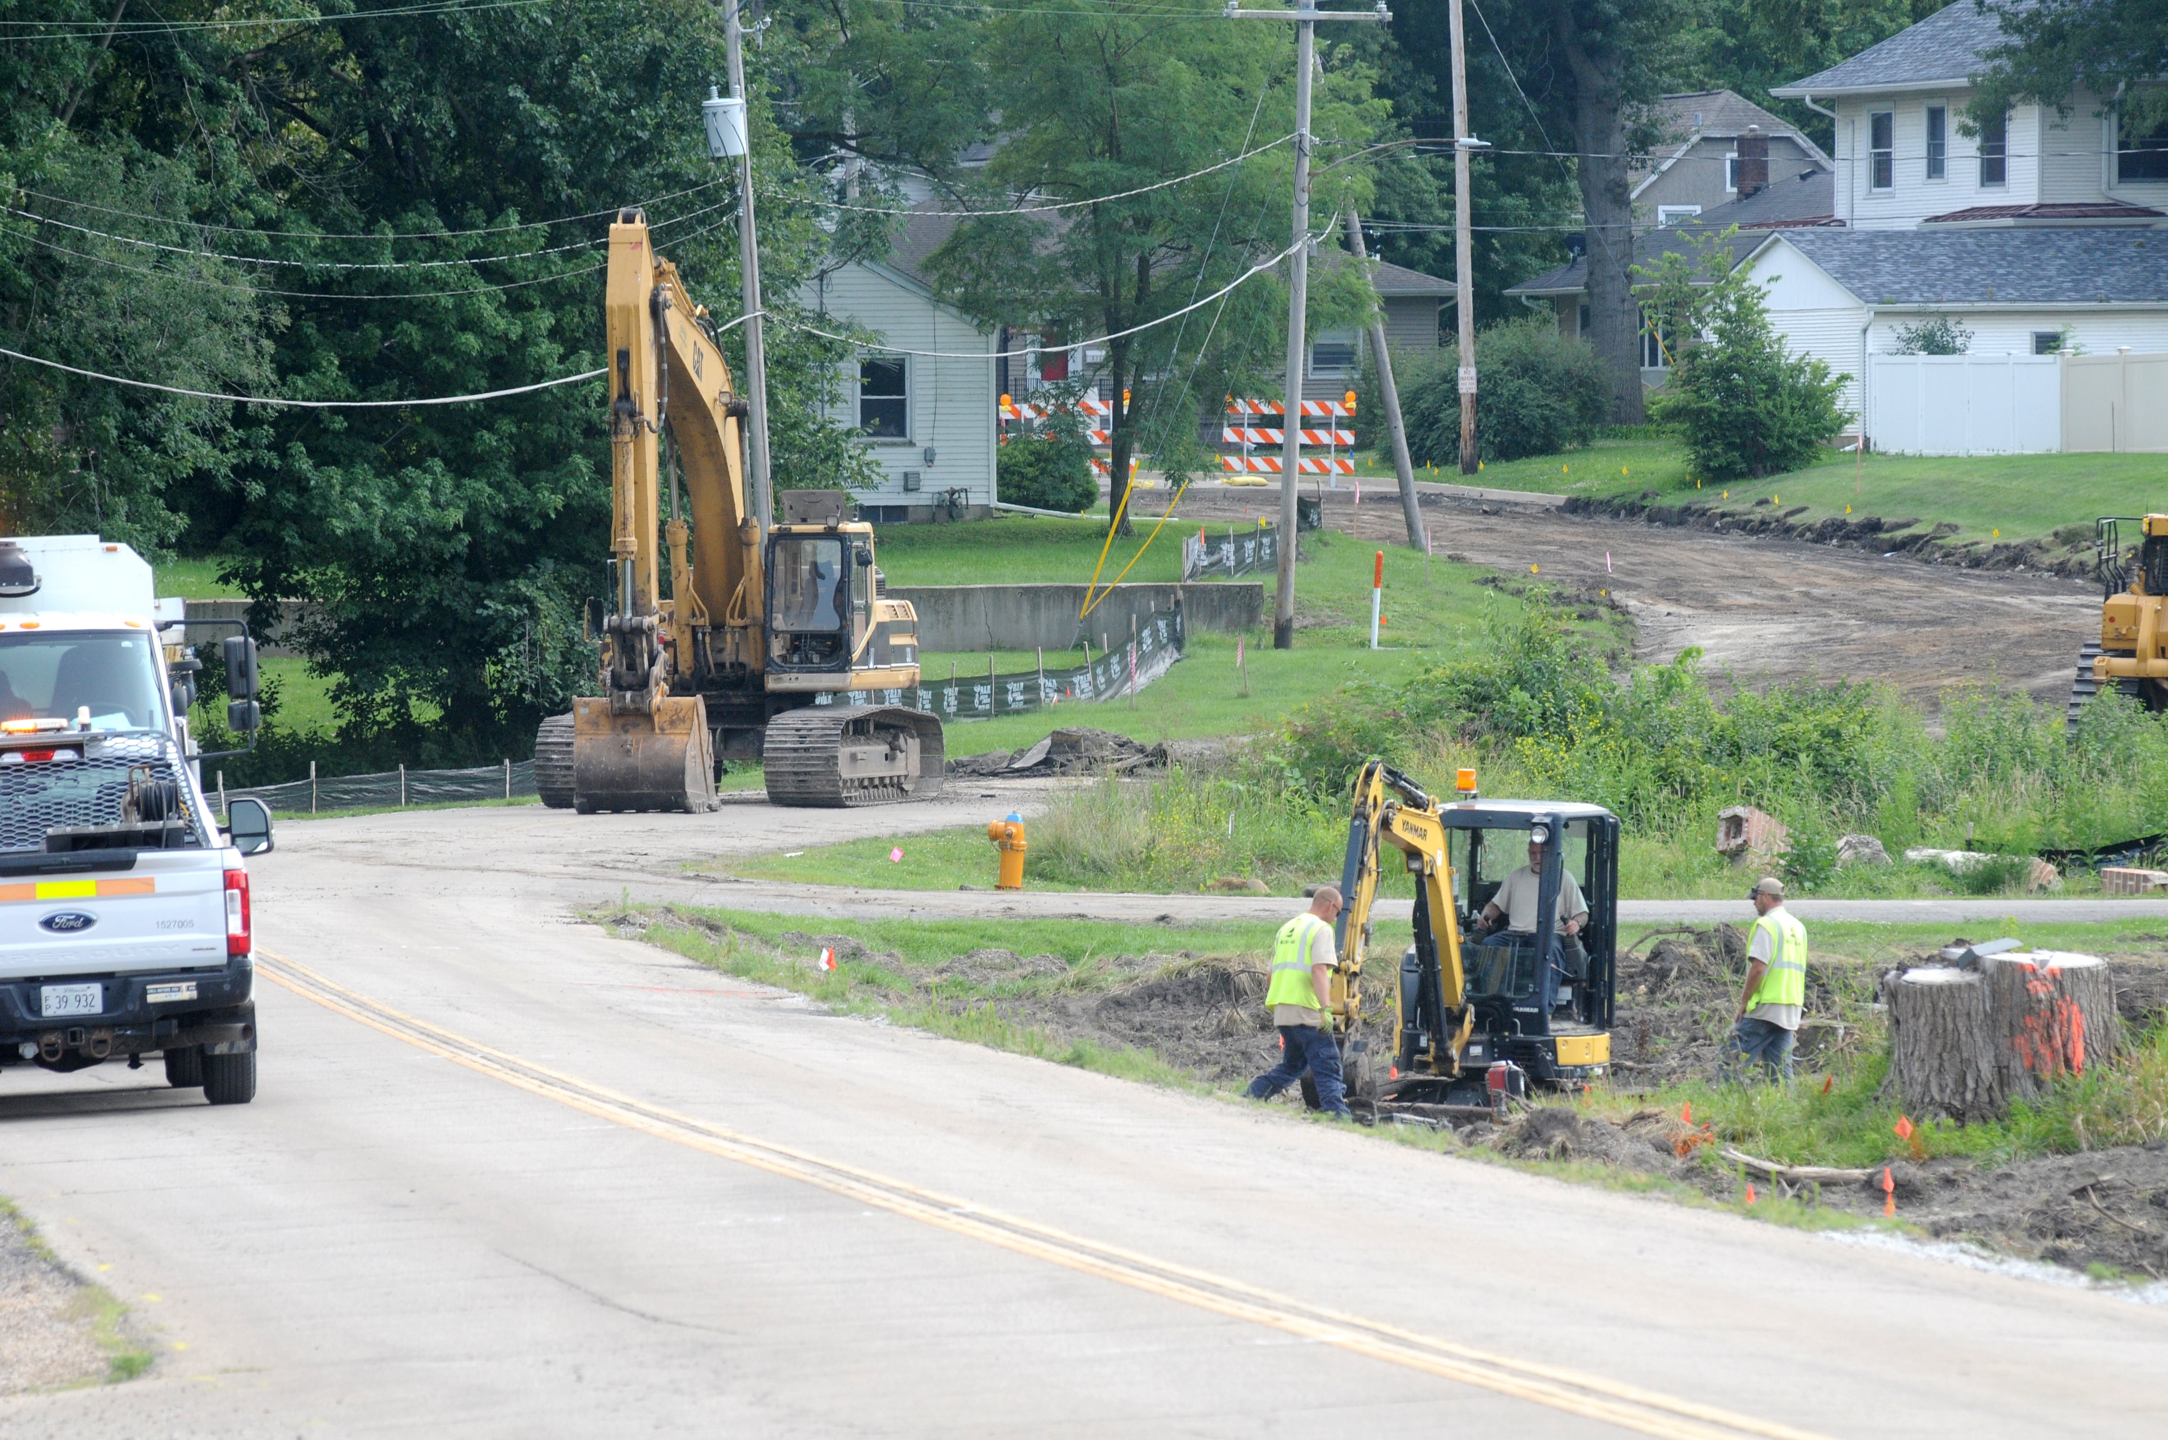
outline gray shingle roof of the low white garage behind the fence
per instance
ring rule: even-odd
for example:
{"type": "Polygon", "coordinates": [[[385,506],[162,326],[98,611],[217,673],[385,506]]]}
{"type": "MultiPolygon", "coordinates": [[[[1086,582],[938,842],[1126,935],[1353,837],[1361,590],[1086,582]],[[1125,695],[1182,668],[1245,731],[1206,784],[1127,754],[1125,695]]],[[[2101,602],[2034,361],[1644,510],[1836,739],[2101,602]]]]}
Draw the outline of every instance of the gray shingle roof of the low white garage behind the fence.
{"type": "Polygon", "coordinates": [[[1784,230],[1871,306],[2168,301],[2168,230],[1784,230]]]}

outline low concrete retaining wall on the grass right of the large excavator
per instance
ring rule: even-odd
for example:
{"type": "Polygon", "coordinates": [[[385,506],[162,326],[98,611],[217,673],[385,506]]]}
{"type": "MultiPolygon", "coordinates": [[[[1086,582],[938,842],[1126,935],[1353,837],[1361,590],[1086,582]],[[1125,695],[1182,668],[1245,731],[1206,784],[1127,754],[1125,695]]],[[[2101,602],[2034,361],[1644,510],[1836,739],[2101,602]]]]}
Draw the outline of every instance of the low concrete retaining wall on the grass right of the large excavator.
{"type": "Polygon", "coordinates": [[[921,651],[1069,651],[1130,640],[1130,616],[1182,605],[1192,635],[1238,633],[1264,625],[1264,586],[1242,581],[1199,586],[1114,586],[1080,622],[1084,586],[891,586],[885,594],[919,612],[921,651]]]}

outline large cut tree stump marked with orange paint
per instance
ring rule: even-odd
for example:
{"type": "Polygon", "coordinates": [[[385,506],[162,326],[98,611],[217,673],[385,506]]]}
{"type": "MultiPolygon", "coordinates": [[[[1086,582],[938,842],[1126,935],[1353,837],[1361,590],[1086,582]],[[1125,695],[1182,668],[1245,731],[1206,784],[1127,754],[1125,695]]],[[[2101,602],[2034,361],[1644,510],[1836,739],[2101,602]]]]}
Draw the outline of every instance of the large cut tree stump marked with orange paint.
{"type": "Polygon", "coordinates": [[[1921,1119],[2001,1119],[2062,1076],[2116,1054],[2116,987],[2090,954],[2021,950],[1917,965],[1882,987],[1888,1084],[1921,1119]]]}

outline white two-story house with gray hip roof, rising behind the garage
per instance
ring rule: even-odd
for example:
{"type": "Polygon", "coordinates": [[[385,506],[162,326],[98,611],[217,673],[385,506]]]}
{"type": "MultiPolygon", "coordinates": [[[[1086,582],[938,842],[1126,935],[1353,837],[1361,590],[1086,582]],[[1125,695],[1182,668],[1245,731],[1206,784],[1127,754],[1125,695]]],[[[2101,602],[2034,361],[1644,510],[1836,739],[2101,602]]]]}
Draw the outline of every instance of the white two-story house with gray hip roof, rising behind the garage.
{"type": "Polygon", "coordinates": [[[2159,226],[2168,126],[2135,132],[2099,95],[2021,104],[1958,132],[2001,15],[1958,0],[1819,74],[1778,85],[1836,119],[1836,219],[1854,230],[2159,226]]]}

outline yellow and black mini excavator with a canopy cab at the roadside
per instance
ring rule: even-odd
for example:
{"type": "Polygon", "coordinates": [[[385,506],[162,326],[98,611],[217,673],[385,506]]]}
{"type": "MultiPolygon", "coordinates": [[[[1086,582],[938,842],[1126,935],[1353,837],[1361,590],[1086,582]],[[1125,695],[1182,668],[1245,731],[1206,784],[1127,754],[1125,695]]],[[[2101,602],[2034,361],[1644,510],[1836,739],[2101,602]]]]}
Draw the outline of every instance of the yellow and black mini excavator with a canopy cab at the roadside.
{"type": "Polygon", "coordinates": [[[1619,820],[1598,805],[1485,800],[1474,770],[1461,770],[1455,800],[1440,802],[1385,761],[1368,761],[1348,820],[1340,880],[1346,909],[1333,926],[1333,1028],[1348,1093],[1381,1110],[1420,1104],[1474,1117],[1500,1113],[1531,1082],[1578,1089],[1606,1073],[1617,852],[1619,820]],[[1498,930],[1463,946],[1492,896],[1526,861],[1528,844],[1544,846],[1535,930],[1498,930]],[[1416,883],[1416,943],[1401,956],[1398,1026],[1381,1078],[1381,1056],[1359,1026],[1370,909],[1388,850],[1401,852],[1416,883]],[[1567,870],[1589,907],[1585,930],[1572,939],[1557,926],[1567,870]]]}

